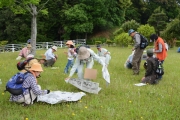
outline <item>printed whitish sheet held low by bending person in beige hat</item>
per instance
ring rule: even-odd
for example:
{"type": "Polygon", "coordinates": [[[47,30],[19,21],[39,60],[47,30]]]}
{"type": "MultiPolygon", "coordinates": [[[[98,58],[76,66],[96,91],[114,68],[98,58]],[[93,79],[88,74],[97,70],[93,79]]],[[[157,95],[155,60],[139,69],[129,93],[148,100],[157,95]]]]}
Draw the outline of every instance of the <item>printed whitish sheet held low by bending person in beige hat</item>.
{"type": "Polygon", "coordinates": [[[98,94],[98,92],[101,90],[99,83],[92,82],[90,80],[71,78],[66,80],[66,82],[88,93],[98,94]]]}

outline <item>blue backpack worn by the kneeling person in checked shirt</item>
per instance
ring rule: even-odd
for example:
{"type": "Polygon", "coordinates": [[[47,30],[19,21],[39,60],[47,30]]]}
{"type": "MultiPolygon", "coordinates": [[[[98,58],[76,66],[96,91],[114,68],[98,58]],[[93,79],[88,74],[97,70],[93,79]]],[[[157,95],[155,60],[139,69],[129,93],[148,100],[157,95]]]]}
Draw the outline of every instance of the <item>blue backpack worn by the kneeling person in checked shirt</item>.
{"type": "Polygon", "coordinates": [[[5,91],[8,91],[12,95],[21,95],[21,94],[23,94],[23,92],[26,89],[28,89],[28,88],[23,88],[22,87],[22,84],[23,84],[25,78],[27,78],[28,74],[30,74],[30,73],[29,72],[26,72],[26,73],[18,72],[17,74],[15,74],[7,82],[5,91]]]}

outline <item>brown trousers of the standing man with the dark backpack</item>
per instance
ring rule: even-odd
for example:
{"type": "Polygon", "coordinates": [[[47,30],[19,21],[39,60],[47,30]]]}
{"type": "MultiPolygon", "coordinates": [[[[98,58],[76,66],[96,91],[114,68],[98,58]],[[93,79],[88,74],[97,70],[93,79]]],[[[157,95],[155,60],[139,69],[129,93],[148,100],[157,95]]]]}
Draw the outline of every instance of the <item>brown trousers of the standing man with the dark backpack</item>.
{"type": "Polygon", "coordinates": [[[143,51],[144,49],[140,49],[140,47],[138,47],[134,52],[133,60],[132,60],[132,70],[134,74],[139,74],[141,56],[143,54],[143,51]]]}

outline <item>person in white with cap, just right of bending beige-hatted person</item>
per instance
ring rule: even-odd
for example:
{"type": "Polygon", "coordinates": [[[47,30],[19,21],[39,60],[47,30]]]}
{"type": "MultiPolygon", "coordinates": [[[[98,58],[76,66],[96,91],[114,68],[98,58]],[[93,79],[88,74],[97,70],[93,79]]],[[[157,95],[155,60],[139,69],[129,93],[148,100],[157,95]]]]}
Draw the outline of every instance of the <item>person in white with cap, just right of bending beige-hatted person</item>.
{"type": "Polygon", "coordinates": [[[106,66],[109,65],[109,61],[111,60],[111,55],[110,55],[110,52],[105,49],[105,48],[102,48],[100,45],[97,45],[97,55],[100,56],[104,61],[105,61],[105,64],[106,66]]]}

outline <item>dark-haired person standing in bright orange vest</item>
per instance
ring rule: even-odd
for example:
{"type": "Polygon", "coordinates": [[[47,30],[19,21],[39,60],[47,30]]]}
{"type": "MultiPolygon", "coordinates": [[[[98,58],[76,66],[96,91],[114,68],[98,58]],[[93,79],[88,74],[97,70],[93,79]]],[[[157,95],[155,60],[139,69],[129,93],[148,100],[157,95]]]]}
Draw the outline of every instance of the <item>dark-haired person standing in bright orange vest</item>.
{"type": "MultiPolygon", "coordinates": [[[[165,58],[167,57],[164,40],[156,34],[152,34],[150,39],[154,42],[154,53],[156,54],[156,58],[161,61],[161,64],[163,64],[165,58]]],[[[161,79],[162,75],[158,76],[158,78],[161,79]]]]}

